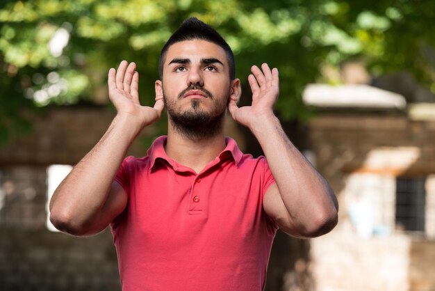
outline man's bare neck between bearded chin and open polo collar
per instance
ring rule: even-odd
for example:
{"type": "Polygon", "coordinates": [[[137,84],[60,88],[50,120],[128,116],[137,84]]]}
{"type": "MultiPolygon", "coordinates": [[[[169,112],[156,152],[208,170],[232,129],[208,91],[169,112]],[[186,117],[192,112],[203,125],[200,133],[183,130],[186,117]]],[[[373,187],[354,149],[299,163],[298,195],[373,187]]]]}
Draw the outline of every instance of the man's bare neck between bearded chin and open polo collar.
{"type": "Polygon", "coordinates": [[[188,166],[196,173],[199,173],[206,164],[213,161],[224,150],[225,146],[224,130],[222,127],[211,136],[206,136],[202,139],[192,139],[174,129],[170,122],[165,152],[168,157],[174,159],[179,164],[188,166]]]}

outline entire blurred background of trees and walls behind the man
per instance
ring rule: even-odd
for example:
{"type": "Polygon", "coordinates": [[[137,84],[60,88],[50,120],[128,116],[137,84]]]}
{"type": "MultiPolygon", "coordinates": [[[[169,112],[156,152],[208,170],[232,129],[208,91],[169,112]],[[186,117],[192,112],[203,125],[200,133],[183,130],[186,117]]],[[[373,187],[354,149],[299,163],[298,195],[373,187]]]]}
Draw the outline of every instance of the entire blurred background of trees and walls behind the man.
{"type": "MultiPolygon", "coordinates": [[[[161,47],[189,16],[251,65],[279,68],[277,114],[329,180],[340,222],[272,247],[265,290],[435,290],[435,1],[0,2],[0,289],[120,290],[110,230],[58,233],[47,202],[115,111],[107,72],[135,61],[153,104],[161,47]]],[[[129,155],[165,134],[163,117],[129,155]]],[[[227,134],[261,155],[228,118],[227,134]]]]}

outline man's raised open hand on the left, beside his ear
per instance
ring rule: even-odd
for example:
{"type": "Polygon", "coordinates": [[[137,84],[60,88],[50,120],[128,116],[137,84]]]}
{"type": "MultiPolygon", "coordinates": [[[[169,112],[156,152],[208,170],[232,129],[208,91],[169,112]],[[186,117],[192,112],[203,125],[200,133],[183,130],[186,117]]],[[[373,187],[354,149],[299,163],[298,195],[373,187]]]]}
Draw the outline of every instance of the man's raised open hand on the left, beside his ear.
{"type": "Polygon", "coordinates": [[[141,106],[139,102],[139,73],[136,63],[122,61],[115,70],[108,72],[108,91],[110,101],[115,105],[117,113],[128,114],[132,121],[147,126],[160,118],[163,111],[163,96],[156,96],[154,107],[141,106]]]}

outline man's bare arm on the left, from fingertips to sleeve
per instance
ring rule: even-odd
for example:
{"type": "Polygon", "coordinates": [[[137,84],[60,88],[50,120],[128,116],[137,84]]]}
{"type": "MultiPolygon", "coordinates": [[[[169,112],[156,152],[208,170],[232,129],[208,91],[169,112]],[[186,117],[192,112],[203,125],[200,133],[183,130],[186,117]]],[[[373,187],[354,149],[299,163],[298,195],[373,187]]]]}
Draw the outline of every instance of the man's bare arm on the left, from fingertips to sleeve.
{"type": "Polygon", "coordinates": [[[113,179],[133,140],[143,127],[158,120],[163,110],[163,96],[156,96],[154,107],[140,106],[135,70],[135,63],[126,61],[117,70],[109,70],[109,97],[117,115],[51,198],[50,220],[59,230],[72,235],[99,233],[126,206],[126,194],[113,179]]]}

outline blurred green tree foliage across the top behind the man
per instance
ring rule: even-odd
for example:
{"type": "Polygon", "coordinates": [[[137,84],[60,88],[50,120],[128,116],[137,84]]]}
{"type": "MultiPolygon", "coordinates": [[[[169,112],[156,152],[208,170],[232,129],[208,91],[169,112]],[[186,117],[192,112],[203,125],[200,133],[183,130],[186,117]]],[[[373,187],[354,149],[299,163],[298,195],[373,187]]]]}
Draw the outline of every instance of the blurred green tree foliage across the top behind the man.
{"type": "Polygon", "coordinates": [[[305,119],[301,93],[359,58],[375,75],[409,70],[435,92],[435,1],[2,0],[0,141],[25,132],[24,109],[107,103],[106,72],[135,61],[143,104],[154,100],[158,53],[183,19],[197,16],[227,39],[246,83],[253,64],[279,68],[286,119],[305,119]]]}

